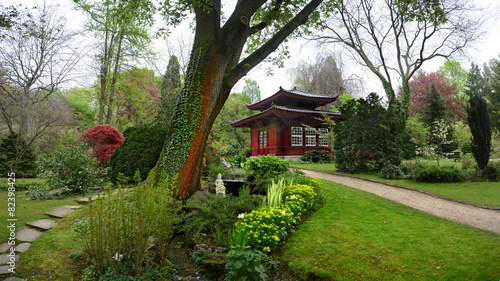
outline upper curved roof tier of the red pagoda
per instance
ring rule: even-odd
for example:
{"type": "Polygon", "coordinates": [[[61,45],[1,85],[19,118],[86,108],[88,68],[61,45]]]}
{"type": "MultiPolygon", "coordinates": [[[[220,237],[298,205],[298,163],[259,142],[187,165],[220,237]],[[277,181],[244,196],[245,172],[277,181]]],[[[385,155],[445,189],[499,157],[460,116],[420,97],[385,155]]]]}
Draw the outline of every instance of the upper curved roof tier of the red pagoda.
{"type": "Polygon", "coordinates": [[[285,90],[280,87],[280,90],[274,95],[265,98],[256,103],[247,104],[246,106],[252,110],[266,110],[273,104],[278,106],[286,106],[288,108],[298,108],[298,109],[315,109],[337,99],[337,95],[325,96],[318,95],[309,92],[304,92],[296,88],[291,90],[285,90]]]}

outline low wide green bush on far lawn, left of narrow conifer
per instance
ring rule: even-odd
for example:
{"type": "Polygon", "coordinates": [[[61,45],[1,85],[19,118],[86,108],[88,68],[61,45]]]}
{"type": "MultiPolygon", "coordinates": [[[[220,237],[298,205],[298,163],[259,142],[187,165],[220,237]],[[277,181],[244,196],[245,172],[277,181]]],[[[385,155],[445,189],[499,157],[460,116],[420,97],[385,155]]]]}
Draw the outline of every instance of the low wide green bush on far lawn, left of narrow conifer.
{"type": "Polygon", "coordinates": [[[420,182],[462,182],[465,174],[455,166],[422,165],[411,177],[420,182]]]}

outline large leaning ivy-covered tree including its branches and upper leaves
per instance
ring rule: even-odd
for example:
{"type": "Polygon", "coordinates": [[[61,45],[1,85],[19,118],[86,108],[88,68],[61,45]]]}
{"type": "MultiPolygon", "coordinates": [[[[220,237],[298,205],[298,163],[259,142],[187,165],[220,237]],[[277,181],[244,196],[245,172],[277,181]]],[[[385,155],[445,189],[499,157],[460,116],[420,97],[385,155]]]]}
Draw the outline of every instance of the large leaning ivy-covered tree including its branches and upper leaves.
{"type": "Polygon", "coordinates": [[[206,142],[232,87],[309,17],[317,19],[321,2],[237,1],[224,17],[220,0],[163,2],[170,23],[194,11],[195,37],[175,119],[150,180],[178,175],[183,198],[199,188],[206,142]]]}

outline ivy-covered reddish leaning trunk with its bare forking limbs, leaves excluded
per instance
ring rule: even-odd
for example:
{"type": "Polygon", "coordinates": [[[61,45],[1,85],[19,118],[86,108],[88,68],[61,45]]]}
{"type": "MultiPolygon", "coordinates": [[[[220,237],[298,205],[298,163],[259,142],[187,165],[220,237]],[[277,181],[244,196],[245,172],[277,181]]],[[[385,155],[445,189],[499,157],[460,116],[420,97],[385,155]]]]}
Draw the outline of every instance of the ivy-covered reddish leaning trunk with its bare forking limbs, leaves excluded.
{"type": "MultiPolygon", "coordinates": [[[[271,39],[242,61],[240,56],[248,37],[267,26],[267,23],[249,25],[249,19],[265,1],[238,1],[222,27],[219,0],[214,0],[209,8],[203,4],[194,7],[196,35],[184,88],[160,158],[148,180],[162,185],[177,176],[178,195],[183,199],[199,189],[208,135],[231,88],[304,24],[321,2],[308,2],[271,39]]],[[[276,8],[281,4],[278,1],[276,8]]]]}

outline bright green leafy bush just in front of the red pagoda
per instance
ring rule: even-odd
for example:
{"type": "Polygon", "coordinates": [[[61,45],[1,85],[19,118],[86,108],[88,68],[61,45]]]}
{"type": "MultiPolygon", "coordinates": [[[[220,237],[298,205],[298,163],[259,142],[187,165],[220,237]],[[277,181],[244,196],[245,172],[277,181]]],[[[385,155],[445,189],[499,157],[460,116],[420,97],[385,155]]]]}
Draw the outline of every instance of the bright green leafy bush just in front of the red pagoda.
{"type": "Polygon", "coordinates": [[[257,158],[250,158],[245,168],[255,178],[272,178],[276,175],[283,174],[289,171],[290,162],[279,159],[274,155],[265,155],[257,158]]]}

